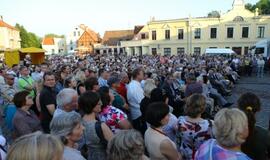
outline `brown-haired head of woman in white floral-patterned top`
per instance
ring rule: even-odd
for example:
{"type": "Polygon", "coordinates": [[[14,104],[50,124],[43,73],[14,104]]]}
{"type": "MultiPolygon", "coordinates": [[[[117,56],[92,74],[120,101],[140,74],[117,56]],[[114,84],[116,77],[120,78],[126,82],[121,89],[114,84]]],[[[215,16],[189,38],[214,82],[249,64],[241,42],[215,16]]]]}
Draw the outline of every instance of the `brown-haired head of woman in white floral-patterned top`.
{"type": "Polygon", "coordinates": [[[205,97],[201,94],[193,94],[187,98],[185,113],[191,118],[197,118],[205,111],[205,97]]]}

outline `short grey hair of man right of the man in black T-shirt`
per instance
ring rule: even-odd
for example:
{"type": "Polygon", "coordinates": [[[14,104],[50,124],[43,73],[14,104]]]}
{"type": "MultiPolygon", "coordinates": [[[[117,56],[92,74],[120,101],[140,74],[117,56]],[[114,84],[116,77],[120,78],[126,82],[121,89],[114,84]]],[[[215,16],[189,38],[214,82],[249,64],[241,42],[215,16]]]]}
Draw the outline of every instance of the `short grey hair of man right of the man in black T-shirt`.
{"type": "Polygon", "coordinates": [[[56,103],[59,108],[72,102],[72,97],[76,96],[77,92],[71,88],[64,88],[56,96],[56,103]]]}

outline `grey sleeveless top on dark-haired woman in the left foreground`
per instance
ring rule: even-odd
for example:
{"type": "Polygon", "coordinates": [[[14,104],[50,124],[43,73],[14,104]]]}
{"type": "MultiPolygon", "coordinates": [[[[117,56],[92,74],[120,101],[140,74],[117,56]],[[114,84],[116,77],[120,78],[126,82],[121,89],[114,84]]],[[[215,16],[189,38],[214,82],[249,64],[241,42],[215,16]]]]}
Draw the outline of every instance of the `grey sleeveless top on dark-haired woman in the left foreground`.
{"type": "Polygon", "coordinates": [[[106,148],[100,142],[95,129],[96,121],[83,121],[83,138],[88,147],[88,160],[106,160],[106,148]]]}

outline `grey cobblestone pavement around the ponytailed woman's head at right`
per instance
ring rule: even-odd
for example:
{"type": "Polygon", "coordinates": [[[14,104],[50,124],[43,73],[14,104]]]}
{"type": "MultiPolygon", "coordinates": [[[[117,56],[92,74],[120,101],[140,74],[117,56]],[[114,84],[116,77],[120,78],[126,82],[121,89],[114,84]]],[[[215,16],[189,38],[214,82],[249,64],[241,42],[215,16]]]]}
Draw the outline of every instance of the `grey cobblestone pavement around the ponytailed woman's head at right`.
{"type": "Polygon", "coordinates": [[[262,109],[256,115],[257,125],[268,129],[270,121],[270,75],[266,75],[264,78],[257,78],[256,76],[241,77],[228,100],[235,106],[239,96],[245,92],[255,93],[261,99],[262,109]]]}

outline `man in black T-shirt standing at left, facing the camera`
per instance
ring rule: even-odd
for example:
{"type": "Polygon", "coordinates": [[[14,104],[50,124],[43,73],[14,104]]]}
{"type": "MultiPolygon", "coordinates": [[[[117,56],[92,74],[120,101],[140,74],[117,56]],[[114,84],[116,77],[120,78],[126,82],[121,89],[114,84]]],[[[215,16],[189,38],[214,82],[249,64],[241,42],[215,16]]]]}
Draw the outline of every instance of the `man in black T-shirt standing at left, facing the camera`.
{"type": "Polygon", "coordinates": [[[45,133],[50,133],[50,122],[56,107],[55,76],[47,72],[43,76],[43,89],[40,92],[41,125],[45,133]]]}

